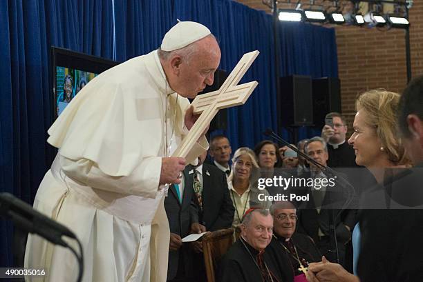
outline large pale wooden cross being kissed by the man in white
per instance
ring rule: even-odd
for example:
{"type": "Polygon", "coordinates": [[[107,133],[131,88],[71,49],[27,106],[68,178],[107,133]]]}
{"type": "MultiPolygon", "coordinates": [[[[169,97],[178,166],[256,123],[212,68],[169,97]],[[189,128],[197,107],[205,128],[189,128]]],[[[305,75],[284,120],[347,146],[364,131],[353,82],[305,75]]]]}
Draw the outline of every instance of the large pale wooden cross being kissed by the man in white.
{"type": "Polygon", "coordinates": [[[207,94],[198,95],[191,105],[194,105],[194,114],[201,114],[194,123],[182,143],[173,152],[172,157],[187,157],[188,152],[200,138],[214,116],[220,109],[243,105],[247,101],[254,88],[259,84],[251,81],[238,85],[245,72],[252,65],[252,62],[259,55],[259,51],[249,52],[243,55],[236,64],[234,70],[229,74],[219,90],[207,94]]]}

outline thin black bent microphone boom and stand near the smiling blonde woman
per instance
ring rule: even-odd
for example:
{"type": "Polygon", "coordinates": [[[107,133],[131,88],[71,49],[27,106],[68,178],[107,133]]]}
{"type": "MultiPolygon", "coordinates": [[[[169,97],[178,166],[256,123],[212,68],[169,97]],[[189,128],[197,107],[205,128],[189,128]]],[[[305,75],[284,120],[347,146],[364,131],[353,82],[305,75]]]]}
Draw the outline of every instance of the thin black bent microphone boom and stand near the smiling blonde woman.
{"type": "MultiPolygon", "coordinates": [[[[344,205],[342,206],[342,208],[339,210],[338,214],[335,216],[335,214],[333,214],[332,209],[328,210],[328,213],[329,213],[329,230],[330,230],[330,233],[332,233],[332,236],[330,236],[331,237],[332,250],[330,250],[330,252],[335,252],[337,263],[339,263],[339,252],[338,252],[338,243],[337,243],[337,230],[335,228],[335,218],[337,218],[337,216],[339,216],[341,214],[341,212],[343,210],[345,210],[346,207],[348,207],[348,205],[350,205],[351,201],[353,201],[353,195],[355,194],[355,188],[353,187],[353,185],[351,185],[351,183],[349,183],[346,179],[344,179],[344,177],[342,177],[339,173],[335,172],[335,170],[332,170],[332,168],[329,168],[328,166],[325,166],[325,165],[321,165],[321,163],[314,161],[314,159],[308,157],[307,154],[304,154],[303,152],[301,152],[300,150],[295,148],[293,145],[288,143],[288,141],[285,141],[282,137],[280,137],[278,134],[276,134],[270,128],[268,128],[265,132],[263,132],[263,134],[265,134],[268,137],[272,137],[272,138],[276,139],[277,141],[280,141],[284,145],[288,146],[288,148],[290,148],[294,152],[297,152],[297,154],[299,154],[301,157],[303,157],[304,159],[306,159],[310,163],[317,166],[317,168],[319,168],[323,172],[323,174],[325,174],[328,177],[332,177],[333,179],[336,179],[336,181],[339,183],[339,185],[341,185],[342,188],[347,189],[348,198],[347,198],[346,202],[344,203],[344,205]]],[[[330,193],[328,193],[328,197],[330,197],[330,193]]]]}

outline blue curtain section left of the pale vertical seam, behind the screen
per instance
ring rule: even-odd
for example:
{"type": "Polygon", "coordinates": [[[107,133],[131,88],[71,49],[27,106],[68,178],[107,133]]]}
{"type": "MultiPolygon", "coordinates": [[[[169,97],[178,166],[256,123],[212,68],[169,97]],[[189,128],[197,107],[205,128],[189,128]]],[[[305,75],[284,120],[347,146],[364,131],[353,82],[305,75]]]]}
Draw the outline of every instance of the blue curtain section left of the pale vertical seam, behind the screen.
{"type": "MultiPolygon", "coordinates": [[[[110,0],[0,1],[1,192],[32,203],[50,167],[50,46],[111,59],[112,11],[110,0]]],[[[12,225],[0,228],[0,265],[13,265],[12,225]]]]}

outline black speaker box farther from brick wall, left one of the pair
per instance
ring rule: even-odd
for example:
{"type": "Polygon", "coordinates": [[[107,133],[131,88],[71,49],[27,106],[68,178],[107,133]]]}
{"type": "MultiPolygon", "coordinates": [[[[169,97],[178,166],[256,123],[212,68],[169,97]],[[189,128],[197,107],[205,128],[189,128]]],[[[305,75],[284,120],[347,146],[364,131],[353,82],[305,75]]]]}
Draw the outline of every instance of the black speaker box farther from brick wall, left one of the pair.
{"type": "Polygon", "coordinates": [[[312,79],[303,75],[281,77],[279,117],[283,126],[313,125],[312,79]]]}

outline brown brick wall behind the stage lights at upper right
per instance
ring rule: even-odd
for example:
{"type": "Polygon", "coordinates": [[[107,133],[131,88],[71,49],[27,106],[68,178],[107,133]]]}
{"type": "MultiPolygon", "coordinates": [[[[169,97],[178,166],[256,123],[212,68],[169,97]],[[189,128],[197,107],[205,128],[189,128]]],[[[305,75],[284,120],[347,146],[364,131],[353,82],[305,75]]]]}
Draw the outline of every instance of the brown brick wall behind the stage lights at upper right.
{"type": "MultiPolygon", "coordinates": [[[[261,0],[238,0],[238,2],[270,12],[270,8],[261,0]]],[[[415,77],[423,75],[422,0],[414,1],[409,20],[411,23],[411,72],[415,77]]],[[[348,124],[352,125],[357,94],[373,88],[386,88],[396,92],[404,89],[406,85],[405,30],[336,26],[336,34],[342,112],[346,115],[348,124]]]]}

